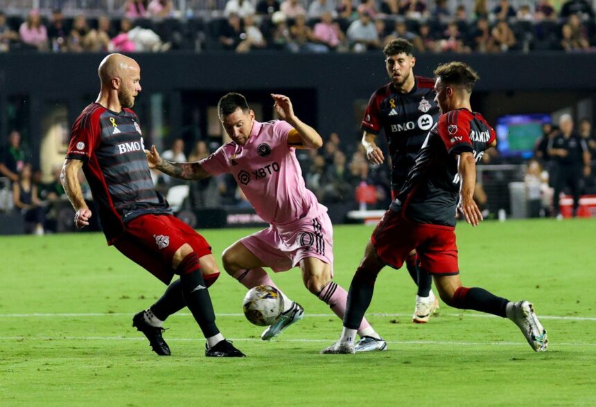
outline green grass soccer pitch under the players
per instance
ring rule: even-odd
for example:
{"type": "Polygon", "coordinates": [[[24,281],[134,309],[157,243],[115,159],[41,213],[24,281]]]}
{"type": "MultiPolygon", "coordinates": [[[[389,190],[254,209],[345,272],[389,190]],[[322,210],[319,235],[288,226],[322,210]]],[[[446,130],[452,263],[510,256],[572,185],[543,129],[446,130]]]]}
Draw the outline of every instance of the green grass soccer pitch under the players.
{"type": "MultiPolygon", "coordinates": [[[[335,280],[346,289],[372,228],[335,228],[335,280]]],[[[252,230],[204,230],[216,257],[252,230]]],[[[549,334],[535,353],[509,320],[441,304],[414,325],[414,285],[385,269],[369,320],[387,352],[319,355],[341,330],[294,269],[274,275],[306,318],[277,341],[241,315],[245,288],[222,273],[209,290],[218,325],[246,359],[204,356],[187,310],[153,354],[132,315],[164,286],[103,235],[1,237],[0,406],[595,406],[596,221],[459,224],[468,287],[527,299],[549,334]]]]}

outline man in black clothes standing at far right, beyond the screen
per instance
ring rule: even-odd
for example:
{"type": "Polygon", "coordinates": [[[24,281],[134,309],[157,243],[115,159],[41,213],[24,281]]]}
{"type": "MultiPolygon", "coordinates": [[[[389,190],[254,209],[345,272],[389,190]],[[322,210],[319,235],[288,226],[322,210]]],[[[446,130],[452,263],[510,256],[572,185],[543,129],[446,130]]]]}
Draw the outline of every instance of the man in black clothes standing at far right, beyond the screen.
{"type": "Polygon", "coordinates": [[[563,188],[569,187],[573,196],[573,216],[579,208],[580,183],[582,168],[584,177],[590,176],[590,152],[588,145],[573,128],[573,119],[569,114],[559,118],[561,132],[554,136],[548,145],[548,154],[554,160],[554,212],[561,219],[559,195],[563,188]]]}

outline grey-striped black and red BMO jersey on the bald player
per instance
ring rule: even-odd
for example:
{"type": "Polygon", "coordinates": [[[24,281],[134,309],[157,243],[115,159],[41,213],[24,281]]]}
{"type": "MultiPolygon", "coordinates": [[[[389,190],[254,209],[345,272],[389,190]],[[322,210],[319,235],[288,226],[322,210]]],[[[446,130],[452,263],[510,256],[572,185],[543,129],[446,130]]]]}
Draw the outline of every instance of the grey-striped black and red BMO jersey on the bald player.
{"type": "Polygon", "coordinates": [[[67,159],[84,161],[83,172],[110,244],[125,222],[147,213],[172,213],[155,190],[139,118],[131,109],[116,113],[98,103],[87,106],[72,127],[67,159]]]}

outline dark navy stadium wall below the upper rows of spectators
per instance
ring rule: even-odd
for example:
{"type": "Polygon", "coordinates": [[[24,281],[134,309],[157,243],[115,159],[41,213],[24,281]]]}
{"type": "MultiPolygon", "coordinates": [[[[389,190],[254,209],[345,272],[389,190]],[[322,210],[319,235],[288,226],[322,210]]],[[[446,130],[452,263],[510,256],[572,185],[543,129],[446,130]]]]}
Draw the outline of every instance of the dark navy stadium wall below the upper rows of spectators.
{"type": "MultiPolygon", "coordinates": [[[[213,97],[227,91],[247,91],[262,92],[266,98],[270,92],[299,94],[301,89],[308,89],[308,98],[297,105],[299,114],[308,116],[323,136],[338,132],[351,142],[359,120],[355,101],[366,101],[374,89],[387,82],[380,52],[362,55],[167,53],[134,57],[141,64],[143,93],[139,108],[146,106],[148,95],[164,93],[168,100],[166,120],[170,134],[179,133],[184,126],[182,104],[189,94],[213,97]],[[311,98],[315,100],[309,102],[311,98]]],[[[35,138],[41,134],[44,106],[49,101],[60,100],[67,105],[72,123],[80,109],[96,97],[96,70],[102,58],[100,54],[0,55],[0,145],[6,143],[6,107],[13,96],[24,97],[28,103],[25,108],[29,116],[28,138],[34,148],[35,138]]],[[[568,96],[563,100],[572,100],[576,93],[578,97],[586,97],[596,89],[593,81],[596,55],[590,53],[420,55],[415,72],[430,76],[438,64],[449,60],[467,62],[480,73],[482,80],[476,89],[479,110],[484,107],[483,98],[495,92],[504,95],[498,100],[515,99],[514,105],[530,112],[551,105],[552,110],[559,109],[561,99],[556,98],[557,92],[566,92],[568,96]],[[544,93],[550,91],[554,98],[544,93]],[[525,96],[516,98],[516,93],[525,96]]],[[[211,104],[216,101],[214,98],[211,104]]],[[[487,102],[486,107],[493,109],[497,105],[487,102]]],[[[489,120],[499,114],[486,113],[489,120]]]]}

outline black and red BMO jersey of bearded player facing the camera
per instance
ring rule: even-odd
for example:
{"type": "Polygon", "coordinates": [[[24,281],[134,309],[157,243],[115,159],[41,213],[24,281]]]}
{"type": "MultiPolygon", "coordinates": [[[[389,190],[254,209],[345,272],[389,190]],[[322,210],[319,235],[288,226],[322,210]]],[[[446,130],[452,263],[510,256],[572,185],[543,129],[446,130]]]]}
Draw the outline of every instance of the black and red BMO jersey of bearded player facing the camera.
{"type": "Polygon", "coordinates": [[[392,190],[396,192],[414,166],[428,130],[439,118],[434,86],[434,80],[416,76],[414,88],[400,93],[389,82],[372,94],[367,105],[361,128],[372,134],[384,129],[392,161],[392,190]]]}

